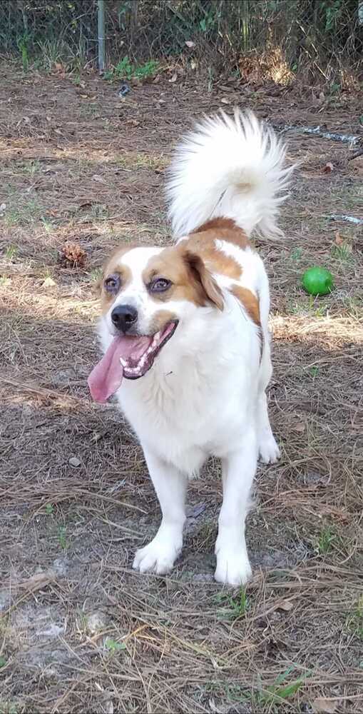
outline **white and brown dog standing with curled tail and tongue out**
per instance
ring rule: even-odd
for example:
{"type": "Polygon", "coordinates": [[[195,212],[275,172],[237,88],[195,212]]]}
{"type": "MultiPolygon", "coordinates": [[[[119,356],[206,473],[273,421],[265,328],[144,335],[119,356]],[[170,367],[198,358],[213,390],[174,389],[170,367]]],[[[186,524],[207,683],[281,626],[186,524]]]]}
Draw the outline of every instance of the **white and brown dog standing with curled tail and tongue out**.
{"type": "Polygon", "coordinates": [[[160,503],[160,528],[133,561],[141,573],[173,568],[188,479],[215,456],[223,479],[215,580],[250,578],[245,518],[257,458],[280,456],[266,398],[269,284],[250,237],[281,233],[290,171],[285,146],[253,114],[201,121],[168,176],[175,243],[118,246],[104,268],[104,356],[88,385],[96,401],[116,395],[160,503]]]}

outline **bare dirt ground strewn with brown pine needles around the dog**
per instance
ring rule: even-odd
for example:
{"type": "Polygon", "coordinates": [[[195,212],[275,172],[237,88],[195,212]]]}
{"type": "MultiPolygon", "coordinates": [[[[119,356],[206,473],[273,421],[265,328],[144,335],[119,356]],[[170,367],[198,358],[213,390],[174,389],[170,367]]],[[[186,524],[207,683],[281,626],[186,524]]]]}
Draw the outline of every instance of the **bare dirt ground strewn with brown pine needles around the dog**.
{"type": "Polygon", "coordinates": [[[0,713],[358,713],[362,228],[331,216],[362,217],[362,159],[339,167],[347,147],[292,134],[301,166],[286,238],[257,243],[282,459],[258,471],[245,591],[213,582],[213,462],[190,484],[173,573],[133,572],[158,503],[130,429],[113,403],[91,402],[86,378],[99,267],[119,241],[168,241],[163,172],[195,117],[239,104],[276,124],[363,134],[362,104],[167,78],[126,99],[117,90],[1,66],[0,713]],[[86,251],[84,268],[58,262],[66,240],[86,251]],[[316,263],[334,273],[325,298],[300,288],[316,263]]]}

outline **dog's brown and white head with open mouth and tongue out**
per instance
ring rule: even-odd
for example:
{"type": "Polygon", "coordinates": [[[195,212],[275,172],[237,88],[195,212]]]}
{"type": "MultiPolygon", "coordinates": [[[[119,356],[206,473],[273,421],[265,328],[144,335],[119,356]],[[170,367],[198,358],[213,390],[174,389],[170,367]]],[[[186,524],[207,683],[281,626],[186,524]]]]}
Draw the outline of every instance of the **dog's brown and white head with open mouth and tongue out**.
{"type": "Polygon", "coordinates": [[[101,306],[112,341],[88,384],[97,401],[106,401],[123,377],[143,377],[175,333],[193,331],[201,310],[223,310],[223,295],[202,258],[180,241],[114,251],[103,271],[101,306]]]}

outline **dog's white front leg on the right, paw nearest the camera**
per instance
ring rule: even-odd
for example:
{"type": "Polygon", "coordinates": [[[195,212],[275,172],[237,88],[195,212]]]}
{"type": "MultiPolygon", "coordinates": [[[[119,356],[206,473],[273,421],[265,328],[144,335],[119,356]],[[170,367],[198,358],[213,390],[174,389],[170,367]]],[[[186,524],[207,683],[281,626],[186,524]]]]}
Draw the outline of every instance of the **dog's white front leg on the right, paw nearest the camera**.
{"type": "Polygon", "coordinates": [[[223,504],[215,543],[215,580],[226,585],[242,585],[251,576],[245,542],[245,518],[257,467],[255,431],[245,433],[240,448],[222,461],[223,504]]]}

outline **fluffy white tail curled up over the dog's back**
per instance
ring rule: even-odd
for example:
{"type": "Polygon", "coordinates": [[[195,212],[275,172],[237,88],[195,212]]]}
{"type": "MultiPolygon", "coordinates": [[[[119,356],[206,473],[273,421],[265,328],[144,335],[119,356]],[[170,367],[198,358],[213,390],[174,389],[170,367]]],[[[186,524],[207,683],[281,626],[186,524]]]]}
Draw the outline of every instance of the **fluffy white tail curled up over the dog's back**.
{"type": "Polygon", "coordinates": [[[175,237],[217,216],[250,236],[277,236],[276,218],[293,167],[285,146],[254,114],[235,110],[205,119],[175,151],[167,183],[175,237]]]}

